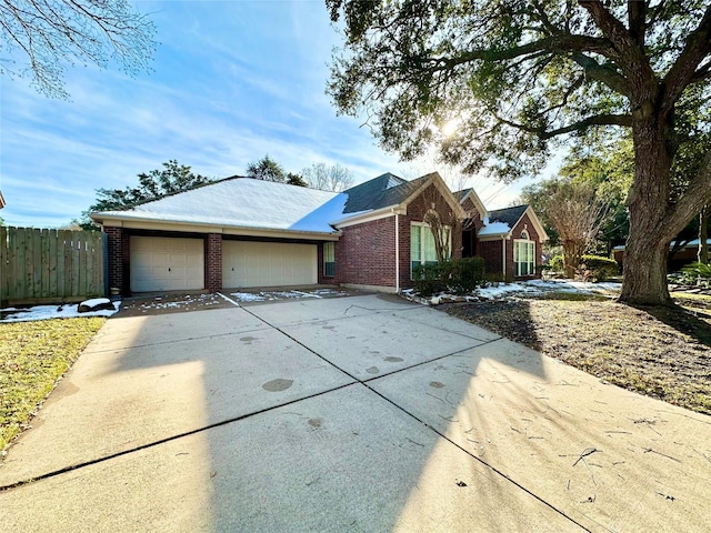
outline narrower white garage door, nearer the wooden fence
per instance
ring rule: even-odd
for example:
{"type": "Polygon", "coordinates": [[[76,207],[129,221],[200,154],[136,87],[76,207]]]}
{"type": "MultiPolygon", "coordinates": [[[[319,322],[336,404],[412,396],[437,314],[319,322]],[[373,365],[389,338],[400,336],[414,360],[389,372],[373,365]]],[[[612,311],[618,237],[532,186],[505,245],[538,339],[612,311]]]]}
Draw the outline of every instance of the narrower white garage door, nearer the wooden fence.
{"type": "Polygon", "coordinates": [[[131,291],[204,289],[204,241],[131,237],[131,291]]]}

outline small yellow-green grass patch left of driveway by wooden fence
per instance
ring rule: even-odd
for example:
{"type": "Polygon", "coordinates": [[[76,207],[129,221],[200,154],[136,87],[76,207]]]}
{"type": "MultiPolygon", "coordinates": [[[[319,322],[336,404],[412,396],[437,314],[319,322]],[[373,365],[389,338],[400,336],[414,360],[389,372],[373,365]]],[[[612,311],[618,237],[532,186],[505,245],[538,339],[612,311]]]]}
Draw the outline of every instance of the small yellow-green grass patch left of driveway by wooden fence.
{"type": "Polygon", "coordinates": [[[0,451],[29,426],[106,318],[0,323],[0,451]]]}

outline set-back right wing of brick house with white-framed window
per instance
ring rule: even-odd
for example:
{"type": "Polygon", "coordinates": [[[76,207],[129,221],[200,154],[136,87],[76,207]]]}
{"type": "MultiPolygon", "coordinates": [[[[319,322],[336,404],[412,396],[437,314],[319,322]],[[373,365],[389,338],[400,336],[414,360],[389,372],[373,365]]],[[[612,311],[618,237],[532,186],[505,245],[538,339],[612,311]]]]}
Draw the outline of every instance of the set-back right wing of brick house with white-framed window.
{"type": "Polygon", "coordinates": [[[501,273],[507,280],[539,275],[548,234],[530,205],[487,211],[473,189],[455,195],[468,213],[462,257],[483,258],[488,273],[501,273]]]}

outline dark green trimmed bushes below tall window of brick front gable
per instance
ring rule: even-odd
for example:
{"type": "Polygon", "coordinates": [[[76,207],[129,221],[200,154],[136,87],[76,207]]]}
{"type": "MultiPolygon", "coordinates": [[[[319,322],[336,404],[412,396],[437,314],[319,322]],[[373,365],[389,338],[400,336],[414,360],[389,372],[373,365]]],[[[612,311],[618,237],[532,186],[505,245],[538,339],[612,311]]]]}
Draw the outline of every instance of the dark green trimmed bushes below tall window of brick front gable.
{"type": "Polygon", "coordinates": [[[464,294],[484,283],[484,260],[474,257],[421,264],[414,268],[412,276],[415,291],[423,296],[445,290],[464,294]]]}

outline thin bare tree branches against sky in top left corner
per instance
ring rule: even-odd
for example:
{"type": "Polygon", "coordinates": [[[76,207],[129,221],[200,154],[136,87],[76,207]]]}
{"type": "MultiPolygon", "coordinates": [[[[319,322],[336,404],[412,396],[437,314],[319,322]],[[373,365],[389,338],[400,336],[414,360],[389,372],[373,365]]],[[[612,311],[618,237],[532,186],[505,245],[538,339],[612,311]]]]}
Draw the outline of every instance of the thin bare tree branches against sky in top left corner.
{"type": "Polygon", "coordinates": [[[0,0],[0,73],[30,76],[39,92],[67,98],[67,66],[118,63],[136,74],[148,68],[154,33],[127,0],[0,0]]]}

